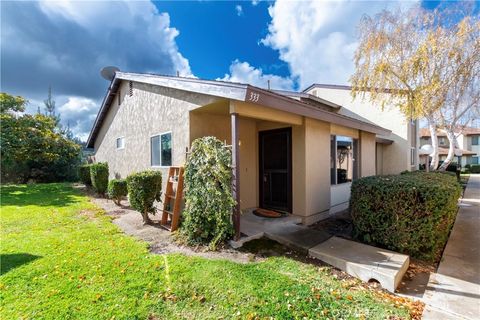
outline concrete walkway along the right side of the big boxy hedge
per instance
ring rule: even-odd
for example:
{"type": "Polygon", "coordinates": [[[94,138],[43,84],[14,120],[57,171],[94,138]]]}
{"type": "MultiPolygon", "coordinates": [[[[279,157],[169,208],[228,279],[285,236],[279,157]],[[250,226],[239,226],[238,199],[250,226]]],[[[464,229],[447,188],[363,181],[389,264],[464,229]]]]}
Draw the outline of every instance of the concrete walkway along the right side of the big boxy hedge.
{"type": "Polygon", "coordinates": [[[480,318],[480,174],[470,175],[437,273],[430,275],[423,319],[480,318]]]}

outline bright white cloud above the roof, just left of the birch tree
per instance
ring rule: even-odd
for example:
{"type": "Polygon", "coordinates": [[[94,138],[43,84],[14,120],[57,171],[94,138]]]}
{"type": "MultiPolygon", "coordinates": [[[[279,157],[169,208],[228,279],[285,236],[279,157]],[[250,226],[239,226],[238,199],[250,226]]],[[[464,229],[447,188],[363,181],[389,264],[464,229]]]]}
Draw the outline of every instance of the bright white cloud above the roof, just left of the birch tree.
{"type": "MultiPolygon", "coordinates": [[[[409,3],[408,5],[412,5],[409,3]]],[[[357,48],[356,26],[364,14],[374,15],[398,3],[276,1],[272,21],[261,40],[278,50],[300,89],[312,83],[347,84],[357,48]]]]}

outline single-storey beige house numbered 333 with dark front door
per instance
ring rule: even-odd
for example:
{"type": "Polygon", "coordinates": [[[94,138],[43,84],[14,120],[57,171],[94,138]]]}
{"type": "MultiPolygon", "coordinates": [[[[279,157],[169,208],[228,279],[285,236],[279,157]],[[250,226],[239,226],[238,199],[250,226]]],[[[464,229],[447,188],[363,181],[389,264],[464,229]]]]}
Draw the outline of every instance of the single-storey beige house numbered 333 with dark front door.
{"type": "Polygon", "coordinates": [[[215,136],[238,146],[232,149],[239,157],[241,209],[283,210],[310,224],[348,206],[352,180],[417,164],[414,156],[408,165],[409,133],[397,129],[398,118],[393,125],[375,124],[341,102],[248,84],[117,72],[87,146],[95,161],[108,162],[111,178],[146,169],[166,175],[168,166],[184,163],[193,140],[215,136]]]}

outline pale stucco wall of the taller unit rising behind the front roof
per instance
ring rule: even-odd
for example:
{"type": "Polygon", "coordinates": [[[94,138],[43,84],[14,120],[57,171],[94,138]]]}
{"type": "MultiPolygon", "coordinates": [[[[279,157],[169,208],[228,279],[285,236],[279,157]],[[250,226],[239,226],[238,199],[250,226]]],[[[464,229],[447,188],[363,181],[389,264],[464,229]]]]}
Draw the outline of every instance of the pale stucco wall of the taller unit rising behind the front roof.
{"type": "Polygon", "coordinates": [[[393,140],[394,143],[385,145],[383,148],[382,172],[384,174],[397,174],[412,169],[410,166],[412,137],[409,136],[409,121],[397,108],[387,106],[382,111],[379,105],[369,101],[368,95],[365,100],[360,98],[353,100],[350,90],[313,88],[309,93],[313,94],[314,91],[318,97],[341,105],[339,113],[375,123],[392,131],[392,134],[386,138],[393,140]]]}

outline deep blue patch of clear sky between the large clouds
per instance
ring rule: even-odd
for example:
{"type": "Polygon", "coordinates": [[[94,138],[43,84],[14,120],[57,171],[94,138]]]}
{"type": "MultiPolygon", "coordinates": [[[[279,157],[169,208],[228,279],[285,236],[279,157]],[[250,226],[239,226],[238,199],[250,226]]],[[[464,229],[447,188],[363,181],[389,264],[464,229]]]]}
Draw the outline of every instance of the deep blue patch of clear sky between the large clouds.
{"type": "Polygon", "coordinates": [[[192,72],[215,79],[228,73],[232,61],[252,61],[265,72],[289,74],[278,52],[258,41],[268,34],[268,2],[156,2],[180,31],[176,41],[192,72]],[[242,9],[239,14],[236,7],[242,9]]]}

